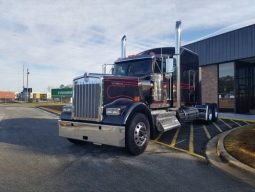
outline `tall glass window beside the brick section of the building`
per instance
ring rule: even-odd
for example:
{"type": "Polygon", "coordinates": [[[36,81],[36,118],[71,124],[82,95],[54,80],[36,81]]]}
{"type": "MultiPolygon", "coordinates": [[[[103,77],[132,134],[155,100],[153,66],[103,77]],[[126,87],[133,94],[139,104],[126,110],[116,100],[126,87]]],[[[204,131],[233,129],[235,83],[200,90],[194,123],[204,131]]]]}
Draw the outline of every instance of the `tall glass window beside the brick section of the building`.
{"type": "Polygon", "coordinates": [[[233,111],[235,107],[234,63],[219,64],[219,108],[233,111]]]}

